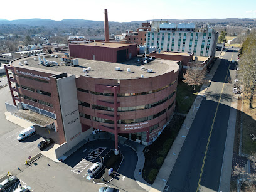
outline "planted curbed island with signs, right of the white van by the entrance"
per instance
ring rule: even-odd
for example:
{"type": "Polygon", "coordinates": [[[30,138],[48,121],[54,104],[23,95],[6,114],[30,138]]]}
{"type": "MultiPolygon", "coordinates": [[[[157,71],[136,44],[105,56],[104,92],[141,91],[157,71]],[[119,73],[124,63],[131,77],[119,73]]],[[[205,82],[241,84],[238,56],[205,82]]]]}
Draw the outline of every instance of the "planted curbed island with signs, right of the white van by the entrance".
{"type": "Polygon", "coordinates": [[[117,172],[122,164],[124,156],[119,152],[116,156],[114,150],[110,150],[104,156],[103,168],[100,172],[93,178],[93,183],[105,184],[112,181],[117,175],[117,172]],[[111,173],[112,172],[112,173],[111,173]]]}

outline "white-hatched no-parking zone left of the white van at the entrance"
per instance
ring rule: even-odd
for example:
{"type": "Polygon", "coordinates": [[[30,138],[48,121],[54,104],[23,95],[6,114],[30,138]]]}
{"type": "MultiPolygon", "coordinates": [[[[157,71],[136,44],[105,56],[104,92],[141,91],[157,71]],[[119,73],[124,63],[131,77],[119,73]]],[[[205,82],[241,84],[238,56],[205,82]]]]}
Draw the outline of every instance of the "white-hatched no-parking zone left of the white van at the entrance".
{"type": "MultiPolygon", "coordinates": [[[[90,154],[88,154],[85,158],[82,159],[71,171],[75,174],[80,174],[82,171],[87,168],[89,164],[91,164],[100,154],[107,149],[106,147],[99,147],[94,149],[90,154]]],[[[86,175],[86,174],[85,174],[86,175]]]]}

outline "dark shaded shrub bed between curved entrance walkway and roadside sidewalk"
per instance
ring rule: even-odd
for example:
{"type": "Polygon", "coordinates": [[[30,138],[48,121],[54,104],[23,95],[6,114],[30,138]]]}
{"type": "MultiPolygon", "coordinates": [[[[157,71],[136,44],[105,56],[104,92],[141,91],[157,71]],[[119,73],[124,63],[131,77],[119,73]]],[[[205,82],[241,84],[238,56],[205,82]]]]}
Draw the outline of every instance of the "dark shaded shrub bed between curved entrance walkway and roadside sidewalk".
{"type": "Polygon", "coordinates": [[[161,168],[169,149],[171,149],[173,141],[178,135],[184,119],[185,117],[174,115],[171,122],[166,126],[156,141],[150,146],[145,147],[143,151],[145,155],[145,164],[142,171],[142,177],[147,183],[154,183],[157,173],[161,168]]]}

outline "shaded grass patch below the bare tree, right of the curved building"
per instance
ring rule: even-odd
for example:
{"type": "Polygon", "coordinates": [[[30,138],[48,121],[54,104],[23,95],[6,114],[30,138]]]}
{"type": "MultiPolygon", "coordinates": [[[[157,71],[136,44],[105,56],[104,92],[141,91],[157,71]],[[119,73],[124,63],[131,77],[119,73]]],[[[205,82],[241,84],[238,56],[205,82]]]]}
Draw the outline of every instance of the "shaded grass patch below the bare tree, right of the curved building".
{"type": "Polygon", "coordinates": [[[196,86],[195,91],[193,88],[193,86],[188,86],[188,84],[179,80],[176,95],[176,112],[188,114],[188,111],[193,104],[196,95],[200,91],[201,85],[196,86]]]}

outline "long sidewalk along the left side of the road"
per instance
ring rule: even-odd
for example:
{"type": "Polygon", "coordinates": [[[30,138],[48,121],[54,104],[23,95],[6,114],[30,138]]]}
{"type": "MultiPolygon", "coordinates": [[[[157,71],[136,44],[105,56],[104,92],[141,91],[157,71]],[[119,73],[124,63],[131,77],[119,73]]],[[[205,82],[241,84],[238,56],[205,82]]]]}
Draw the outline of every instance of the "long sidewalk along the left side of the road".
{"type": "MultiPolygon", "coordinates": [[[[224,54],[225,54],[225,52],[221,53],[221,56],[223,56],[224,54]]],[[[164,163],[163,163],[161,169],[159,170],[159,173],[157,174],[156,180],[152,184],[152,187],[149,191],[151,191],[151,192],[164,191],[164,188],[166,187],[166,183],[169,179],[171,171],[173,170],[174,164],[176,163],[176,160],[178,159],[179,152],[181,151],[183,143],[184,143],[186,136],[188,135],[189,129],[193,123],[196,112],[197,112],[198,108],[200,107],[203,97],[205,97],[205,93],[207,92],[207,89],[210,86],[211,79],[213,78],[213,75],[215,74],[215,72],[218,68],[218,65],[220,65],[220,61],[221,61],[220,59],[217,59],[215,64],[213,65],[213,68],[211,68],[210,73],[208,73],[208,75],[206,75],[206,80],[208,80],[208,83],[203,84],[203,86],[201,87],[201,90],[198,93],[198,96],[196,97],[188,114],[186,115],[186,119],[183,122],[183,126],[181,127],[178,136],[176,137],[175,141],[173,142],[173,146],[171,146],[171,149],[168,152],[168,155],[166,156],[166,159],[164,160],[164,163]]]]}

